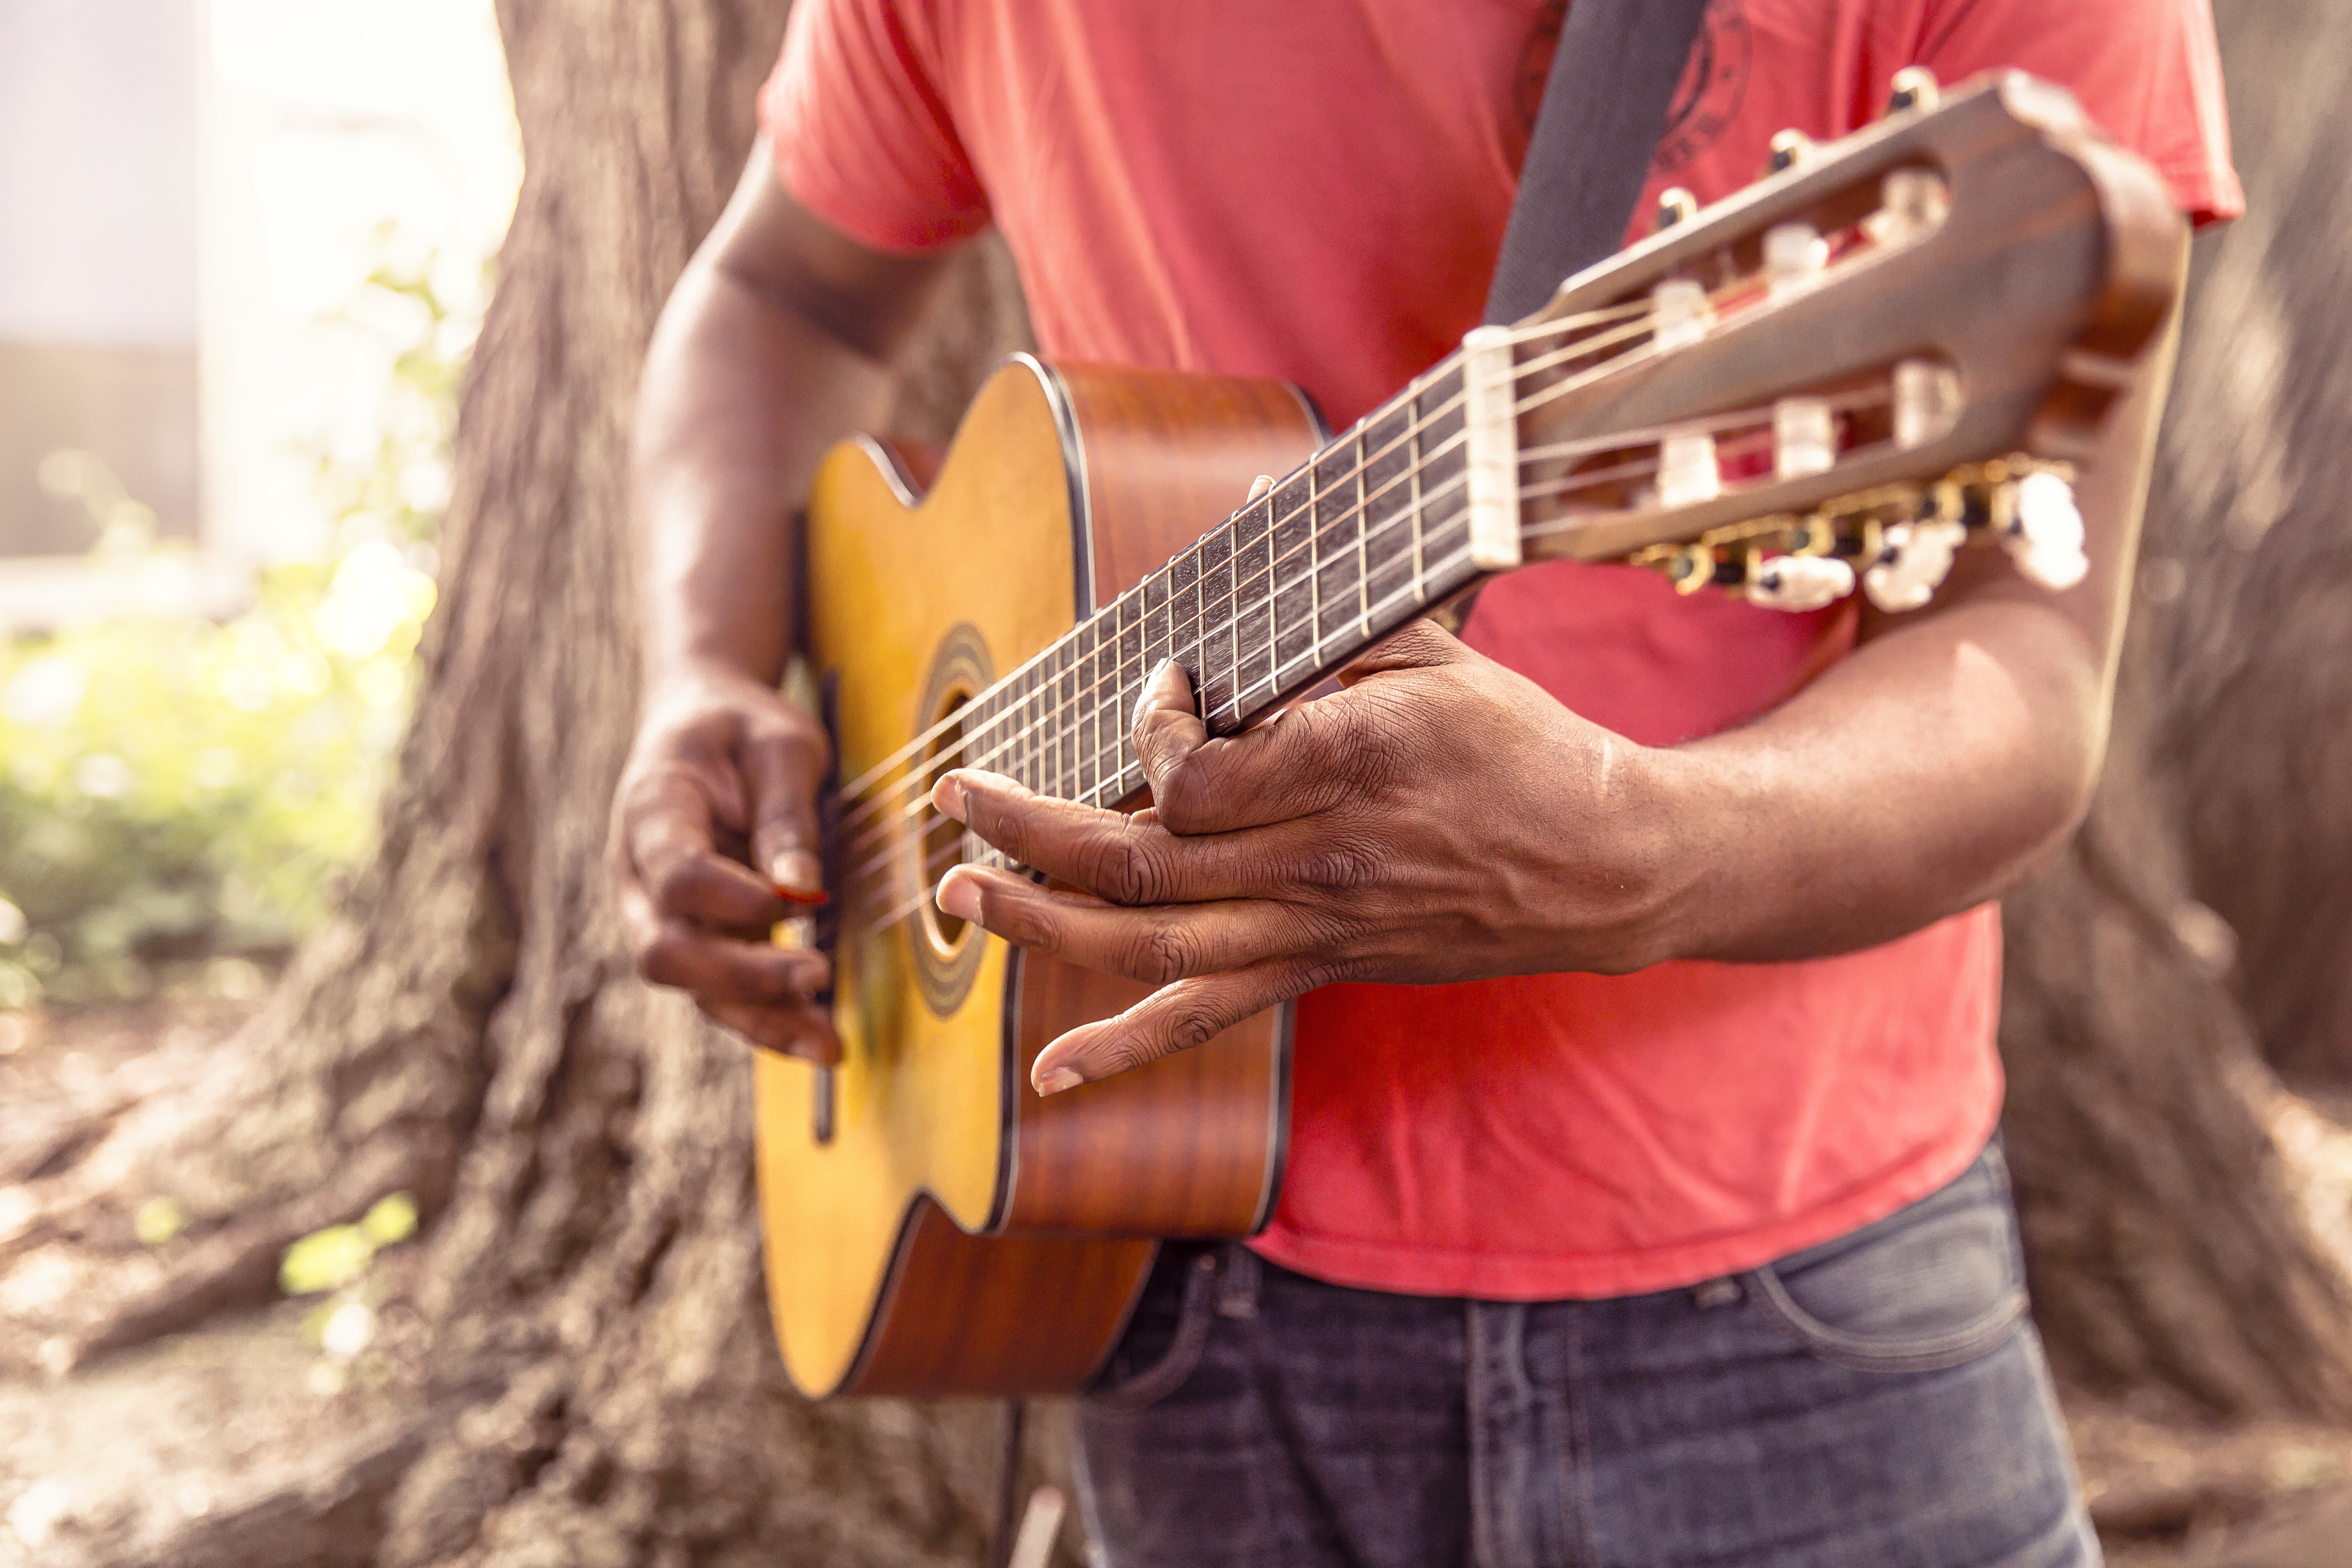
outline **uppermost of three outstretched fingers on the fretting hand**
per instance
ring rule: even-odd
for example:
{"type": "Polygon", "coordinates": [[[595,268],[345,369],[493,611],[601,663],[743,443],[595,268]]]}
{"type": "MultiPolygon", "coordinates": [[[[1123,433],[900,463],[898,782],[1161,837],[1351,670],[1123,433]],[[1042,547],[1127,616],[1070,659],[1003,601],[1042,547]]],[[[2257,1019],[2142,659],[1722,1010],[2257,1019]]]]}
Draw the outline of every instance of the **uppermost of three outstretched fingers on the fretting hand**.
{"type": "MultiPolygon", "coordinates": [[[[1202,903],[1263,893],[1291,837],[1181,839],[1157,820],[1037,795],[1000,773],[955,769],[931,804],[1021,865],[1120,905],[1202,903]]],[[[950,872],[953,875],[953,872],[950,872]]]]}

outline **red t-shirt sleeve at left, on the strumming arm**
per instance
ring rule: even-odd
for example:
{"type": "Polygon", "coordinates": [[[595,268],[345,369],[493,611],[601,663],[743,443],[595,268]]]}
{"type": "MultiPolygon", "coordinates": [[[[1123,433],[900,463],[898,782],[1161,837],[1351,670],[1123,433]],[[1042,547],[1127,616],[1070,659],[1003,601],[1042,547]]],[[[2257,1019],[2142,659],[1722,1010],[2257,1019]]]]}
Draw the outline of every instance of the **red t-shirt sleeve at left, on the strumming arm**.
{"type": "Polygon", "coordinates": [[[934,252],[988,228],[988,190],[920,12],[920,0],[800,0],[760,89],[783,188],[884,252],[934,252]]]}

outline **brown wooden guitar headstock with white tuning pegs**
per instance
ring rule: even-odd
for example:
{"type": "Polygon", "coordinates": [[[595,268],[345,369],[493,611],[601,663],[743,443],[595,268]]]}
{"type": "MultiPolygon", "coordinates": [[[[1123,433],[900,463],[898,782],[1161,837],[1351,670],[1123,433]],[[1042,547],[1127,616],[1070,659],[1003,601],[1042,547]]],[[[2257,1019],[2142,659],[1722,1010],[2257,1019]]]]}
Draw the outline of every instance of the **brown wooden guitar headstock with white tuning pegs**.
{"type": "Polygon", "coordinates": [[[1670,193],[1649,240],[1470,334],[1489,538],[1508,505],[1524,559],[1788,609],[1856,581],[1922,604],[1971,529],[2053,588],[2082,576],[2074,465],[2178,301],[2185,221],[2058,87],[1896,87],[1877,125],[1785,132],[1748,190],[1670,193]]]}

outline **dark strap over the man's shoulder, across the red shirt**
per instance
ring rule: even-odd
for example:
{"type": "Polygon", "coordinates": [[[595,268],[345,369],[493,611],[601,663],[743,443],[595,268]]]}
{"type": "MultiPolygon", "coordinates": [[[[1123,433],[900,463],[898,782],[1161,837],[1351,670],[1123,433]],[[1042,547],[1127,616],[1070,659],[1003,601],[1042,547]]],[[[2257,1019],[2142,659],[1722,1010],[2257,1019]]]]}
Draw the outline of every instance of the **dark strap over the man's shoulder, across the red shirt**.
{"type": "Polygon", "coordinates": [[[1625,244],[1708,0],[1576,0],[1519,169],[1519,197],[1486,289],[1515,322],[1625,244]]]}

